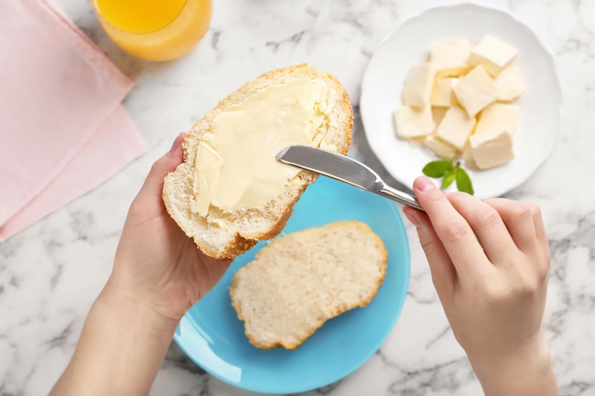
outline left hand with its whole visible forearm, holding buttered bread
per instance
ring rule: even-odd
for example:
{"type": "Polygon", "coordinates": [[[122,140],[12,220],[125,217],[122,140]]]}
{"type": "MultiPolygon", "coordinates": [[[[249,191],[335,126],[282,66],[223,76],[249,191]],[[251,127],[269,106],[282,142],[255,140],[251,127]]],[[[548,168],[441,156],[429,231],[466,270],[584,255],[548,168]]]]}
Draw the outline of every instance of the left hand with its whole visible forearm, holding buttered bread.
{"type": "Polygon", "coordinates": [[[114,270],[52,396],[148,394],[181,317],[229,267],[230,259],[202,254],[161,198],[183,140],[155,162],[130,205],[114,270]]]}

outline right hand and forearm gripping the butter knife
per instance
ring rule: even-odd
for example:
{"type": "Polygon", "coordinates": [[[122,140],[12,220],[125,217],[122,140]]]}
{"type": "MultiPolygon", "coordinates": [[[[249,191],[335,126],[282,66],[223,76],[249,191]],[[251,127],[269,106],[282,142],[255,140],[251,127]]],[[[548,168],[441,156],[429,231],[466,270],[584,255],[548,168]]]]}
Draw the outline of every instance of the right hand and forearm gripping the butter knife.
{"type": "Polygon", "coordinates": [[[541,332],[550,252],[537,205],[445,196],[425,176],[414,192],[425,213],[403,213],[486,394],[557,395],[541,332]]]}

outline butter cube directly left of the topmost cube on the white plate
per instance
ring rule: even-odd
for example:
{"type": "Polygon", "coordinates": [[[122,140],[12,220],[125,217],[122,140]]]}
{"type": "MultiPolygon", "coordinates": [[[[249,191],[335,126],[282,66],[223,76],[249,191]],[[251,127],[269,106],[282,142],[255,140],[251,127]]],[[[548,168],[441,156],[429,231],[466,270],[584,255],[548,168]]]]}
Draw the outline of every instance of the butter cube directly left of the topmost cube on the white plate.
{"type": "Polygon", "coordinates": [[[436,77],[458,77],[471,69],[469,40],[460,39],[433,45],[430,62],[436,65],[436,77]]]}

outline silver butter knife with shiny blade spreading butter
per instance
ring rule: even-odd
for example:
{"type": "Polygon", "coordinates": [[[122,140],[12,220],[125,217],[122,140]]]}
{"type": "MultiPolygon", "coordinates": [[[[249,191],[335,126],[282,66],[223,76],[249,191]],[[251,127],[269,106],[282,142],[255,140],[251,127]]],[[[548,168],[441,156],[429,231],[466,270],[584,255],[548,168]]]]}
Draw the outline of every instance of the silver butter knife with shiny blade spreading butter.
{"type": "Polygon", "coordinates": [[[413,195],[387,186],[374,170],[341,154],[296,144],[279,151],[277,161],[339,180],[400,204],[424,210],[413,195]]]}

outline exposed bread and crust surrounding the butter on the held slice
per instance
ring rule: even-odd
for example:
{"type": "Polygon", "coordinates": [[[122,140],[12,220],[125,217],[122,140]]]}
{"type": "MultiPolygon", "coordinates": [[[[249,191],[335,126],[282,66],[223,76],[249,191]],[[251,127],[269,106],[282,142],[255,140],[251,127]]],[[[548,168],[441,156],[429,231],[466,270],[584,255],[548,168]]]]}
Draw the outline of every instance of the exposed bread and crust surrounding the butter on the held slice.
{"type": "Polygon", "coordinates": [[[190,210],[190,198],[194,196],[194,164],[199,142],[203,135],[211,131],[214,118],[228,107],[242,103],[269,85],[305,77],[312,80],[318,78],[327,84],[327,96],[332,97],[336,105],[328,113],[327,122],[323,124],[325,131],[328,132],[325,141],[334,144],[338,153],[347,154],[353,126],[349,96],[335,77],[305,64],[276,69],[261,75],[256,80],[249,81],[223,99],[186,134],[183,142],[184,162],[166,176],[163,200],[170,216],[176,220],[186,235],[195,240],[196,245],[206,255],[215,258],[234,258],[248,251],[258,240],[277,236],[287,223],[293,205],[318,175],[308,171],[297,173],[295,178],[289,180],[282,194],[268,202],[264,208],[247,208],[237,213],[224,213],[211,205],[208,217],[201,217],[190,210]],[[221,222],[226,226],[221,227],[221,222]]]}

